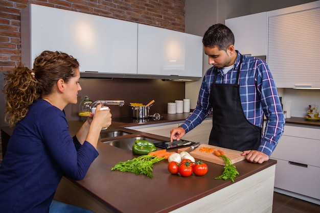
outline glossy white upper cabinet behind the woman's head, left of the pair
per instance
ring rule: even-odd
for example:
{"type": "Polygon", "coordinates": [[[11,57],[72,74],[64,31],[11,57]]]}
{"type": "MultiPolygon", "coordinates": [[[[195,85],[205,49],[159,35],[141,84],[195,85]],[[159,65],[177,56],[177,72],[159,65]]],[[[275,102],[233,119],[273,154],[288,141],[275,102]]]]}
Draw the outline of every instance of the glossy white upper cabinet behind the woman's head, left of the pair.
{"type": "Polygon", "coordinates": [[[30,4],[21,13],[22,63],[44,50],[77,58],[81,72],[137,73],[138,24],[30,4]]]}

